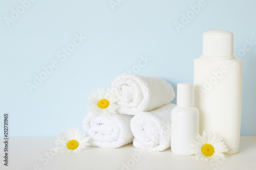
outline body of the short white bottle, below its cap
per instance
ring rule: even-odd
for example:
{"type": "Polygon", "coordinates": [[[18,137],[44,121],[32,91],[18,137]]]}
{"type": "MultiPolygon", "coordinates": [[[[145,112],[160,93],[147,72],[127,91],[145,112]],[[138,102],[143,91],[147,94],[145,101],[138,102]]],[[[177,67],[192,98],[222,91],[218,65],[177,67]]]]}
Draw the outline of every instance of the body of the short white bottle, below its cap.
{"type": "Polygon", "coordinates": [[[190,143],[199,134],[199,111],[195,106],[176,106],[171,116],[171,149],[177,155],[193,155],[190,143]]]}

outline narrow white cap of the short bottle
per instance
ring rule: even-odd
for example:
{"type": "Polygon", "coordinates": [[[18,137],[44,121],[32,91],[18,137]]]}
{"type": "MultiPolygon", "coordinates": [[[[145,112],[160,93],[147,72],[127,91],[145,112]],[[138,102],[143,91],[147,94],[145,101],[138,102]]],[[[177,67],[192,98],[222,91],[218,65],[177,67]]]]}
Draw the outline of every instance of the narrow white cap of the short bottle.
{"type": "Polygon", "coordinates": [[[193,106],[194,105],[194,89],[193,83],[177,84],[177,105],[193,106]]]}

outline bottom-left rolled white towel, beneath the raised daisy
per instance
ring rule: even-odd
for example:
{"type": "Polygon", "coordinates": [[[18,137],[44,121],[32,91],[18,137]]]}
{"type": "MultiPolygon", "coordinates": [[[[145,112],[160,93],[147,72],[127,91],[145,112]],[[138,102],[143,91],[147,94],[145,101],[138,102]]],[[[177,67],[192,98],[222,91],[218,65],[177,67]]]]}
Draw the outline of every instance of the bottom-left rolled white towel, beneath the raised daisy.
{"type": "Polygon", "coordinates": [[[130,122],[133,116],[99,115],[90,111],[83,119],[82,128],[91,137],[91,145],[100,148],[118,148],[133,142],[130,122]]]}

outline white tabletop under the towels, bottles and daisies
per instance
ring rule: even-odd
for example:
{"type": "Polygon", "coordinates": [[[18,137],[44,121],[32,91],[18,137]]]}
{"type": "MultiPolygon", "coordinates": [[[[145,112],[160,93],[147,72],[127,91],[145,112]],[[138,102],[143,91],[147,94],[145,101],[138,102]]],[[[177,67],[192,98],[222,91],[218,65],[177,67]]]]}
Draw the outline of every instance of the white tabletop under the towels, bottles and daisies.
{"type": "MultiPolygon", "coordinates": [[[[4,139],[2,138],[2,141],[4,139]]],[[[0,169],[256,169],[256,136],[242,136],[240,152],[219,162],[196,161],[195,156],[178,156],[139,150],[133,144],[118,149],[87,147],[78,154],[55,155],[55,137],[12,137],[9,140],[8,167],[4,166],[1,142],[0,169]]]]}

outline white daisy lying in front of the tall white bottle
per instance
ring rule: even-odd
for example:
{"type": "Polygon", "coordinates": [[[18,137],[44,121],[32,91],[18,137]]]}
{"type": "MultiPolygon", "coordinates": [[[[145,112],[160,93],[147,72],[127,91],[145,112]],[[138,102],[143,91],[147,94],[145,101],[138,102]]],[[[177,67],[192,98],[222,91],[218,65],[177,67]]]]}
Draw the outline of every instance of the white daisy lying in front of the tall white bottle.
{"type": "Polygon", "coordinates": [[[195,154],[196,160],[218,160],[225,158],[223,152],[227,152],[226,145],[223,144],[222,137],[217,135],[212,135],[210,132],[206,135],[205,131],[203,136],[198,134],[197,141],[194,141],[193,144],[190,144],[194,149],[191,150],[195,154]]]}

